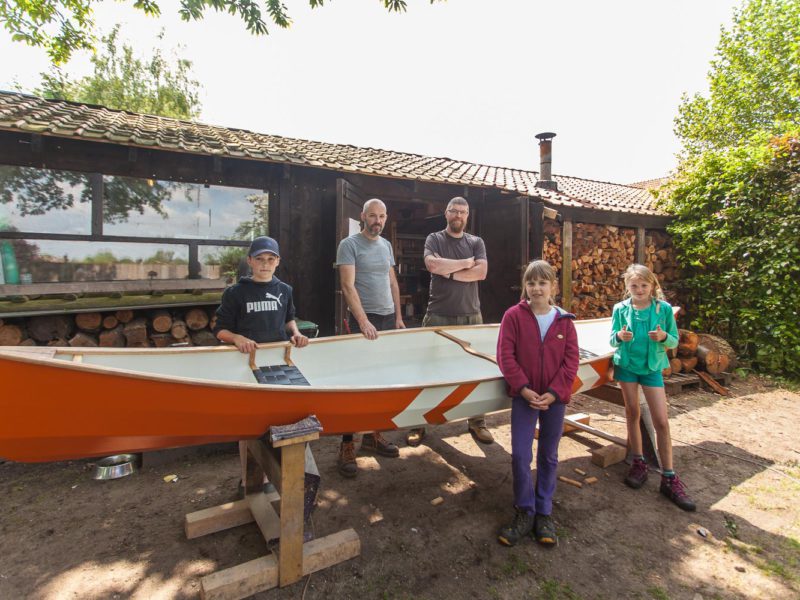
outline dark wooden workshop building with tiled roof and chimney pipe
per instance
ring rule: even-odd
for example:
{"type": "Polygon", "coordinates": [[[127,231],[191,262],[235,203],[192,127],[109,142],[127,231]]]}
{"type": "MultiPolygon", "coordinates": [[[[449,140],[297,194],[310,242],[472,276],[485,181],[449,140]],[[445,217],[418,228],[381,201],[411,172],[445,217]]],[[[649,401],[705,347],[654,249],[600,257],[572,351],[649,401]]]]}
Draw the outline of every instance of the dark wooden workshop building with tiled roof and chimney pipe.
{"type": "MultiPolygon", "coordinates": [[[[193,300],[213,308],[231,273],[209,257],[246,248],[248,232],[267,231],[280,243],[278,276],[294,287],[298,315],[333,334],[344,315],[336,248],[357,230],[361,205],[372,197],[388,207],[384,235],[410,325],[419,324],[427,302],[425,236],[444,228],[454,196],[467,198],[469,231],[486,242],[486,322],[519,299],[521,269],[536,257],[558,267],[560,302],[582,318],[610,314],[630,262],[650,264],[667,284],[676,280],[669,217],[650,191],[552,175],[554,135],[537,136],[539,170],[525,171],[0,92],[0,244],[16,249],[22,273],[0,284],[0,299],[18,301],[16,313],[0,308],[0,319],[36,314],[37,296],[83,292],[106,298],[80,298],[80,310],[127,306],[134,290],[154,293],[148,310],[193,300]],[[78,215],[82,224],[73,227],[78,215]],[[139,258],[76,266],[81,261],[68,260],[66,250],[41,250],[54,244],[100,253],[119,247],[112,254],[139,258]],[[158,267],[130,250],[155,247],[173,249],[161,252],[158,267]],[[192,293],[159,295],[159,286],[192,293]]],[[[70,312],[74,302],[41,310],[70,312]]]]}

